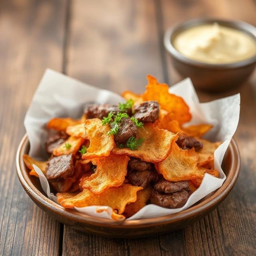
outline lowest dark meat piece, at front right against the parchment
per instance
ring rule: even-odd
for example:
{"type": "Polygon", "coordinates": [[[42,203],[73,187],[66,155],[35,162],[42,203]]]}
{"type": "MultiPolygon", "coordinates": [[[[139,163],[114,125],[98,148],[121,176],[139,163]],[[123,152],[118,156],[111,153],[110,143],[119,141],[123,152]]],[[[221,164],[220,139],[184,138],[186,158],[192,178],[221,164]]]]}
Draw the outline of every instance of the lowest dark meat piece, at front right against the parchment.
{"type": "Polygon", "coordinates": [[[180,208],[186,204],[191,194],[192,191],[190,189],[183,189],[172,194],[162,194],[153,189],[151,192],[150,201],[152,204],[156,204],[164,208],[180,208]]]}

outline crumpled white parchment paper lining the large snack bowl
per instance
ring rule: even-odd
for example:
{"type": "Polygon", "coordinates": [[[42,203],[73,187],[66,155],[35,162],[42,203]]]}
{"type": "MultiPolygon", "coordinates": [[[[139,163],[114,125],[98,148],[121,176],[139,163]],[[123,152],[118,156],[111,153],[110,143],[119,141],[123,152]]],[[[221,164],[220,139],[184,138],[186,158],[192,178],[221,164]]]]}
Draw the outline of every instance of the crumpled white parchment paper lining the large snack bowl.
{"type": "MultiPolygon", "coordinates": [[[[170,92],[182,96],[190,107],[192,120],[188,125],[200,123],[214,125],[214,128],[208,132],[206,138],[212,141],[223,141],[214,152],[214,168],[219,170],[220,177],[216,178],[210,174],[205,174],[200,187],[190,196],[182,208],[167,209],[149,204],[127,220],[160,217],[180,212],[192,206],[210,192],[220,188],[226,179],[221,163],[238,125],[240,94],[212,102],[200,103],[189,78],[172,86],[170,92]]],[[[47,158],[44,150],[44,142],[46,140],[45,124],[50,118],[80,118],[83,113],[83,106],[86,103],[117,104],[123,101],[124,99],[114,92],[84,84],[53,70],[46,70],[24,120],[30,141],[30,156],[41,160],[47,158]]],[[[39,175],[44,192],[50,199],[56,202],[56,196],[50,192],[50,186],[44,174],[37,166],[34,166],[34,168],[39,175]]],[[[92,216],[111,219],[112,209],[108,206],[76,207],[75,209],[92,216]],[[98,212],[98,209],[104,211],[98,212]]]]}

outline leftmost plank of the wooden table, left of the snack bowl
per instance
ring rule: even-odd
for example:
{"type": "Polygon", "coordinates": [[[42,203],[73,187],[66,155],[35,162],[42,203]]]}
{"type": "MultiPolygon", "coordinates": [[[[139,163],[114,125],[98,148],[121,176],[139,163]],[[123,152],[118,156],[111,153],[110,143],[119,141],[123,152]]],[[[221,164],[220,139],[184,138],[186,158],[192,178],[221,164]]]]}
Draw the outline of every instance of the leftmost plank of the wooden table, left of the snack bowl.
{"type": "Polygon", "coordinates": [[[44,70],[61,71],[65,3],[0,5],[0,254],[58,255],[60,224],[27,196],[14,159],[25,133],[25,112],[44,70]]]}

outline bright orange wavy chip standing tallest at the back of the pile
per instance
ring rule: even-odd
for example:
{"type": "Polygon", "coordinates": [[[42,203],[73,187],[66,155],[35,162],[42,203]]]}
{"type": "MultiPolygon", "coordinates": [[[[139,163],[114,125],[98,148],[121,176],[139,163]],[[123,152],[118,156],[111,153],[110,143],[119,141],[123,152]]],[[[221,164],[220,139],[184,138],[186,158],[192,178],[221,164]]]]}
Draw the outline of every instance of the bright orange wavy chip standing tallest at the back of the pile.
{"type": "Polygon", "coordinates": [[[157,100],[160,107],[173,114],[173,120],[177,120],[179,124],[184,124],[191,120],[189,107],[183,98],[169,93],[167,84],[160,84],[153,76],[148,75],[148,85],[146,92],[142,94],[142,99],[157,100]]]}

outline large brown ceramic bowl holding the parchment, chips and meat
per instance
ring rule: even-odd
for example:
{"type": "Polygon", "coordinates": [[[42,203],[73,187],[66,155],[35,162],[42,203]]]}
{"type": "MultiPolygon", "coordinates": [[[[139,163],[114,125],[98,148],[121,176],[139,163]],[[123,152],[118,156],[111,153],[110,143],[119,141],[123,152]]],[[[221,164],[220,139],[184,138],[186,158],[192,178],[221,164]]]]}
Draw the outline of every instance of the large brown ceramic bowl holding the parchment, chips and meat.
{"type": "Polygon", "coordinates": [[[172,232],[196,222],[214,210],[226,198],[240,171],[240,154],[235,140],[232,139],[222,162],[226,180],[218,190],[176,214],[121,222],[81,214],[72,209],[67,210],[50,200],[43,192],[39,179],[28,174],[28,169],[23,162],[22,156],[28,154],[29,148],[28,136],[25,134],[17,150],[16,169],[22,187],[37,206],[59,222],[76,230],[112,238],[154,236],[172,232]]]}

